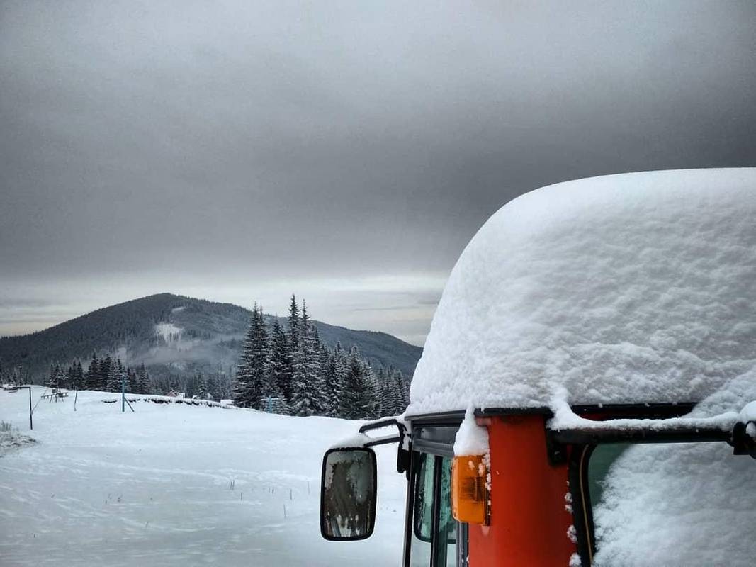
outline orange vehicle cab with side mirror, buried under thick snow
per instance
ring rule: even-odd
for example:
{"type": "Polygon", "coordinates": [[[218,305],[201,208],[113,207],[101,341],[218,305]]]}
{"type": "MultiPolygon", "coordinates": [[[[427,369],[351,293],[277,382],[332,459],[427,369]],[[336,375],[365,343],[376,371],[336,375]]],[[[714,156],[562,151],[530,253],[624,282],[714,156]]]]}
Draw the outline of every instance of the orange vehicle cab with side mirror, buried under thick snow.
{"type": "Polygon", "coordinates": [[[406,413],[327,451],[324,538],[370,537],[371,447],[397,443],[405,567],[756,562],[754,221],[756,169],[508,203],[452,271],[406,413]]]}

